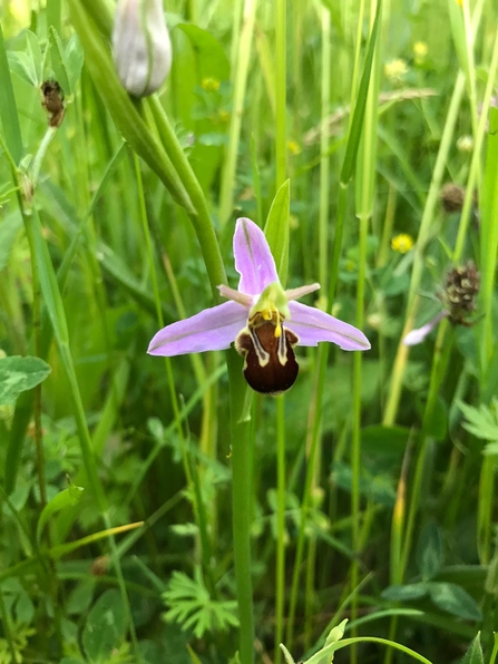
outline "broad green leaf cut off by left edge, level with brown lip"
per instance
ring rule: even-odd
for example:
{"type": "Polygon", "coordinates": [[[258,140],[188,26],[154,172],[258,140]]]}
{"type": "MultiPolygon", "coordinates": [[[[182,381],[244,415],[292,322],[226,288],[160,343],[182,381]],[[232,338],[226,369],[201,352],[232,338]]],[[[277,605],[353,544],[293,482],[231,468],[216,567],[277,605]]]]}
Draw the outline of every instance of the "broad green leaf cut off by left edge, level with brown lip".
{"type": "Polygon", "coordinates": [[[12,404],[21,392],[31,390],[50,373],[40,358],[12,355],[0,359],[0,406],[12,404]]]}

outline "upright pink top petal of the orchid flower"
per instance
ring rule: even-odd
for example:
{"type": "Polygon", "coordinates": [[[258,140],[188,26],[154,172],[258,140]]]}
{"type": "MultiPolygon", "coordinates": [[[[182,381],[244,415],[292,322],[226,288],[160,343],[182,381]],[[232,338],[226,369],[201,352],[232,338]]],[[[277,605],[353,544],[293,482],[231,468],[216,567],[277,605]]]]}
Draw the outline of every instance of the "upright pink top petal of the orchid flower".
{"type": "Polygon", "coordinates": [[[279,281],[275,261],[263,231],[246,217],[237,219],[235,226],[234,257],[242,293],[260,295],[268,284],[279,281]]]}

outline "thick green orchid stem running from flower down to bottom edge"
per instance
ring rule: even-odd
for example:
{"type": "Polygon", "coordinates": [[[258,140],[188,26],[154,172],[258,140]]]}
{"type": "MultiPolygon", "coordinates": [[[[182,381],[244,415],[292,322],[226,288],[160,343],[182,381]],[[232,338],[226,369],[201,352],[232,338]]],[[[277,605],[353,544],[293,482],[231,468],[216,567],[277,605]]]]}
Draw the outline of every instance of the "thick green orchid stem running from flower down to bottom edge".
{"type": "MultiPolygon", "coordinates": [[[[241,664],[254,662],[254,611],[251,575],[251,419],[248,388],[234,350],[226,352],[232,432],[232,495],[235,580],[237,586],[241,664]]],[[[252,397],[252,396],[251,396],[252,397]]]]}

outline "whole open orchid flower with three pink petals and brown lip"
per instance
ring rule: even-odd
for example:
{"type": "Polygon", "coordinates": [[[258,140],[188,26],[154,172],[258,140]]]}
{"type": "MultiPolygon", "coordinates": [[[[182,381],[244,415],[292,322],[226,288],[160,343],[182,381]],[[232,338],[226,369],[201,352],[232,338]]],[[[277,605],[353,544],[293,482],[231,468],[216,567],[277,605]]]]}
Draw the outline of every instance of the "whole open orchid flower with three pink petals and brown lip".
{"type": "Polygon", "coordinates": [[[330,341],[345,351],[370,348],[357,328],[296,302],[320,284],[283,290],[264,233],[251,219],[237,219],[234,257],[238,290],[218,286],[228,302],[163,328],[152,340],[149,354],[218,351],[235,342],[251,388],[275,394],[289,390],[297,377],[295,345],[330,341]]]}

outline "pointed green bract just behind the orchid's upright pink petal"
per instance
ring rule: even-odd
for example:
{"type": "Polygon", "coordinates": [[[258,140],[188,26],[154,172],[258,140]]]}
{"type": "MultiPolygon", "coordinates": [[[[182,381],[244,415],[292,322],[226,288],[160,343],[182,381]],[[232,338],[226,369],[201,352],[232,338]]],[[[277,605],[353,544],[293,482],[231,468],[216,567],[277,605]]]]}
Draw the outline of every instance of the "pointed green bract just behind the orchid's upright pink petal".
{"type": "Polygon", "coordinates": [[[279,188],[266,218],[264,234],[268,242],[276,272],[285,285],[289,266],[289,211],[291,202],[291,183],[286,179],[279,188]]]}

